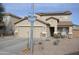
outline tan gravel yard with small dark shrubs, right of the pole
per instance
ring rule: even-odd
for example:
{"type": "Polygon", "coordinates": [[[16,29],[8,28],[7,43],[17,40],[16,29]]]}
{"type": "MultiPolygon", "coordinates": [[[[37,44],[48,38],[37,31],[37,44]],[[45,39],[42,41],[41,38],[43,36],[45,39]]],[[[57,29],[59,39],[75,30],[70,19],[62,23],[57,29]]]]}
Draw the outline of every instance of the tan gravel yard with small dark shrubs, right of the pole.
{"type": "Polygon", "coordinates": [[[79,39],[51,39],[34,46],[34,54],[63,55],[79,51],[79,39]],[[57,44],[56,44],[57,43],[57,44]]]}

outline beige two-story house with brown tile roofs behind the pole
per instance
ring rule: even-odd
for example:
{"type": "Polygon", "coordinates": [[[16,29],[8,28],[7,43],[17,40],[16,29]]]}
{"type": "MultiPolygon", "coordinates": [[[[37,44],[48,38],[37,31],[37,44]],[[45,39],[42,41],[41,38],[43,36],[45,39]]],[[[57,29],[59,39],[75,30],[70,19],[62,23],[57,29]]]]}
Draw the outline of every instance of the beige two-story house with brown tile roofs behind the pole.
{"type": "MultiPolygon", "coordinates": [[[[55,12],[55,13],[36,13],[36,21],[34,22],[34,38],[54,37],[60,33],[61,35],[72,37],[72,21],[71,12],[55,12]]],[[[29,38],[30,22],[28,17],[15,23],[15,32],[18,37],[29,38]]]]}

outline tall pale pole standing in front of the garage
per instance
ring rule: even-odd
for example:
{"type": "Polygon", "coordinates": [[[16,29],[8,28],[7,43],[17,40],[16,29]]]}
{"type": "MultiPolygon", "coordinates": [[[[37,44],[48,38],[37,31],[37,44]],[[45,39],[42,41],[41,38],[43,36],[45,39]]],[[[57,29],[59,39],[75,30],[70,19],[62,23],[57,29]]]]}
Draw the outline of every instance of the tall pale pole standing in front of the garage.
{"type": "Polygon", "coordinates": [[[34,42],[33,42],[33,29],[34,29],[34,22],[35,22],[35,14],[34,14],[34,3],[31,4],[32,9],[30,11],[30,15],[29,15],[29,22],[31,24],[30,26],[30,36],[29,36],[29,42],[28,42],[28,46],[30,49],[29,54],[32,55],[33,54],[33,47],[34,47],[34,42]]]}

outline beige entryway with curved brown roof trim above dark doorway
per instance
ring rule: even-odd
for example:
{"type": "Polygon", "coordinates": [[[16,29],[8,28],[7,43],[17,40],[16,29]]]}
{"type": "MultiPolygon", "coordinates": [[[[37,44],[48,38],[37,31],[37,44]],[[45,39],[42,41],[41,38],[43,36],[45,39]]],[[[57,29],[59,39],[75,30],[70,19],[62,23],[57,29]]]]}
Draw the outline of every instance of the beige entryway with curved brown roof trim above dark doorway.
{"type": "Polygon", "coordinates": [[[59,22],[59,19],[55,17],[49,17],[46,19],[46,21],[50,24],[49,32],[50,36],[53,37],[54,34],[57,34],[57,23],[59,22]]]}

